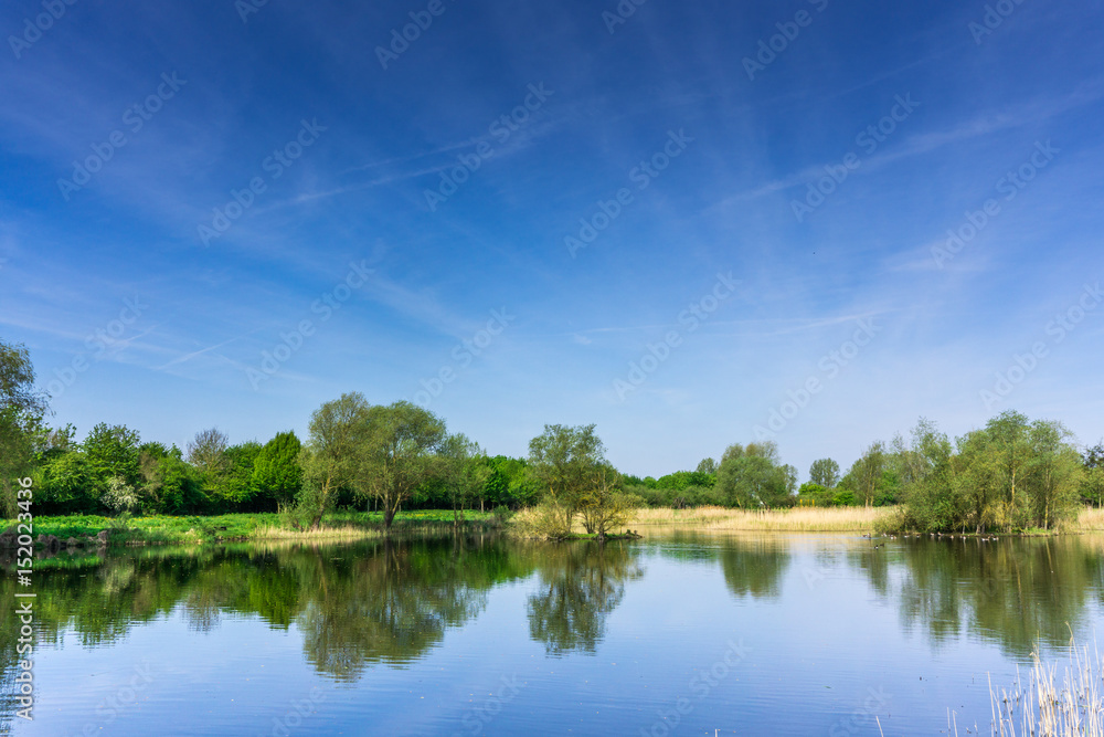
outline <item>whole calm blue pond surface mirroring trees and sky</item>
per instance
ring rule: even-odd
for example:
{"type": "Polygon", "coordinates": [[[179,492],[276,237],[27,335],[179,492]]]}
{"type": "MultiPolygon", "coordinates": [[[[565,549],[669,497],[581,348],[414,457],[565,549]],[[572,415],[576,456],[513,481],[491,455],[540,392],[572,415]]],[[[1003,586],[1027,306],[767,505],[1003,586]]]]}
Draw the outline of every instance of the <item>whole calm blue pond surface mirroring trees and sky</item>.
{"type": "MultiPolygon", "coordinates": [[[[934,735],[1102,621],[1104,540],[142,550],[36,573],[17,735],[934,735]]],[[[13,601],[12,575],[0,589],[13,601]]],[[[0,663],[12,692],[15,632],[0,663]]]]}

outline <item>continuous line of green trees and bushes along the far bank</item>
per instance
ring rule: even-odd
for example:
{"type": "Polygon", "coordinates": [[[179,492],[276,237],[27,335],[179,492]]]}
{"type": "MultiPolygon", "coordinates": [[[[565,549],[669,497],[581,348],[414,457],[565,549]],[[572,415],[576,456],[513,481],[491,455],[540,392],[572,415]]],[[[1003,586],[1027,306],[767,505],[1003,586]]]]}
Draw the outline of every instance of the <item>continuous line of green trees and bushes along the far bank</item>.
{"type": "Polygon", "coordinates": [[[373,406],[359,392],[325,402],[308,434],[231,444],[217,429],[184,450],[142,441],[125,425],[97,424],[79,442],[51,428],[26,349],[0,341],[0,472],[7,516],[11,481],[30,475],[40,514],[221,514],[285,510],[318,527],[336,508],[534,507],[554,535],[575,519],[608,534],[639,506],[762,509],[899,505],[895,524],[922,530],[1050,529],[1085,503],[1104,504],[1104,443],[1079,452],[1059,422],[1005,412],[952,441],[921,420],[906,441],[874,442],[846,472],[818,459],[809,481],[773,442],[733,444],[720,461],[659,478],[620,474],[595,425],[549,424],[528,456],[489,456],[428,410],[373,406]]]}

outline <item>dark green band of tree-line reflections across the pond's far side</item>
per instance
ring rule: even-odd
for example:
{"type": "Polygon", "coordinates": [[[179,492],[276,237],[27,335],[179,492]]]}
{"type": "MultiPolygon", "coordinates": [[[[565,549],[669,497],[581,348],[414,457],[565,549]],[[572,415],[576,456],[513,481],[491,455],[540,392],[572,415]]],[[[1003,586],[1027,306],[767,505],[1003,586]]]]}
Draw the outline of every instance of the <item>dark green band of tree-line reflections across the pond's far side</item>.
{"type": "MultiPolygon", "coordinates": [[[[1026,659],[1038,643],[1059,647],[1071,630],[1091,632],[1104,602],[1102,548],[1104,538],[1087,536],[874,547],[852,537],[676,534],[606,545],[488,537],[63,555],[36,561],[35,641],[49,647],[70,633],[85,647],[104,647],[170,614],[198,631],[246,615],[294,630],[318,673],[353,682],[373,666],[410,666],[449,628],[480,618],[492,590],[511,581],[527,587],[516,615],[526,618],[531,641],[554,657],[594,654],[616,635],[611,614],[629,587],[666,592],[692,569],[701,575],[697,588],[679,592],[688,609],[708,597],[715,606],[718,592],[747,606],[815,601],[818,617],[829,619],[888,607],[902,632],[922,634],[932,649],[969,638],[1026,659]],[[652,566],[666,575],[649,580],[652,566]],[[809,585],[810,570],[819,588],[809,585]]],[[[0,564],[8,568],[0,597],[11,602],[11,561],[0,564]]],[[[0,612],[0,731],[14,708],[13,609],[0,612]]],[[[649,647],[682,644],[658,639],[649,647]]]]}

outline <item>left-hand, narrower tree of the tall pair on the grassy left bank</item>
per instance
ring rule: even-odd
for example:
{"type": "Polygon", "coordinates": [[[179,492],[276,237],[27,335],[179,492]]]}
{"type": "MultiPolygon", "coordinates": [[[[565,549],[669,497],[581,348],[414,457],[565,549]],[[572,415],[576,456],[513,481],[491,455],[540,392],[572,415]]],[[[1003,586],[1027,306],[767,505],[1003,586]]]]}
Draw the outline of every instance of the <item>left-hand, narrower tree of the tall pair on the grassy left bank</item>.
{"type": "Polygon", "coordinates": [[[299,454],[304,484],[299,510],[318,529],[342,488],[352,488],[362,472],[371,407],[359,391],[323,403],[310,415],[307,442],[299,454]]]}

